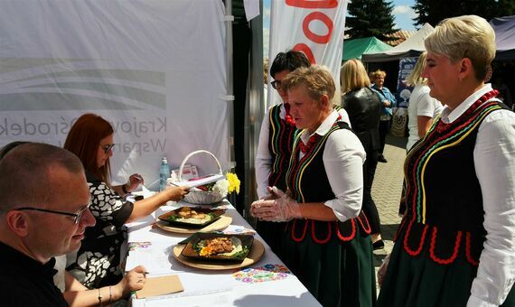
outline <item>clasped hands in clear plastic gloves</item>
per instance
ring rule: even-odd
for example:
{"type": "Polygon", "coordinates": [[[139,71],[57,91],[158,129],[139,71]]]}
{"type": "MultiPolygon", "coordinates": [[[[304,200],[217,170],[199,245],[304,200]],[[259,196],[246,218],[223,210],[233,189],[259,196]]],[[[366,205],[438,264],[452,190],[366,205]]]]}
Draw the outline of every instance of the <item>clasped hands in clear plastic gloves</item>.
{"type": "Polygon", "coordinates": [[[287,193],[277,187],[268,187],[267,190],[269,194],[265,198],[254,201],[250,206],[253,217],[274,222],[302,218],[298,202],[287,193]]]}

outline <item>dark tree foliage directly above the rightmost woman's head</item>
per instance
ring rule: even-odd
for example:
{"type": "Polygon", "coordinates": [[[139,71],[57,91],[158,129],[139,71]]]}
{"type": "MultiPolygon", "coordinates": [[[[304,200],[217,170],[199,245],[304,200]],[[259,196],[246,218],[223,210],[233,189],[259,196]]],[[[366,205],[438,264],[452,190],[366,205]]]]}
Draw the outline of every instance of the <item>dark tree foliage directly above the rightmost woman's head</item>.
{"type": "Polygon", "coordinates": [[[418,17],[415,25],[436,25],[448,17],[476,14],[490,21],[494,17],[515,14],[513,0],[416,0],[412,6],[418,17]],[[445,7],[445,9],[442,9],[445,7]]]}

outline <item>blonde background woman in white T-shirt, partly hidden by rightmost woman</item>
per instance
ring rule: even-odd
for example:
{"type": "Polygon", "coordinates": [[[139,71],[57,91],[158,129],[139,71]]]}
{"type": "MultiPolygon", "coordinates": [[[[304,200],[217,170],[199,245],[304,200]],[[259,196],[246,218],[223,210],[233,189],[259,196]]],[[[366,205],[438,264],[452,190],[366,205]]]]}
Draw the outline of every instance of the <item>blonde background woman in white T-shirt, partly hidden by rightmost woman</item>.
{"type": "Polygon", "coordinates": [[[430,89],[427,86],[427,79],[420,76],[426,65],[426,54],[426,51],[420,54],[415,68],[406,80],[407,86],[415,87],[411,92],[409,107],[407,107],[407,127],[409,129],[407,151],[426,135],[429,127],[433,124],[433,120],[440,115],[444,108],[440,101],[429,95],[430,89]]]}

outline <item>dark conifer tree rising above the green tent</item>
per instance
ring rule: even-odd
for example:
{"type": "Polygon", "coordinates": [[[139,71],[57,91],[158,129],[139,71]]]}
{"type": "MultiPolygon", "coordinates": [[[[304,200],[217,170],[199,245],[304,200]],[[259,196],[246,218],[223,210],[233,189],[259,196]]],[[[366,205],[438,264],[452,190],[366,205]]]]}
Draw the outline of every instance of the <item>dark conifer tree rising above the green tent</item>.
{"type": "Polygon", "coordinates": [[[381,41],[388,40],[386,34],[395,33],[393,5],[384,0],[352,0],[347,6],[349,16],[346,30],[352,39],[375,36],[381,41]]]}

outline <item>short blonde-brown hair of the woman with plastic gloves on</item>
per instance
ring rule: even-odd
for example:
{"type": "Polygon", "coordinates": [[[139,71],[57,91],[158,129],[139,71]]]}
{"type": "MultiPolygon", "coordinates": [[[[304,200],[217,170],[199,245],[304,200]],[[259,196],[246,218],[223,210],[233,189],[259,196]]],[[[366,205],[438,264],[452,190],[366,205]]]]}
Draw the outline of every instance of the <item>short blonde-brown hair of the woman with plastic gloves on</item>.
{"type": "Polygon", "coordinates": [[[323,66],[315,64],[310,67],[300,67],[289,73],[281,81],[281,84],[284,90],[304,85],[309,96],[314,100],[320,100],[323,95],[327,95],[332,107],[332,98],[334,97],[336,87],[334,86],[331,71],[323,66]]]}

